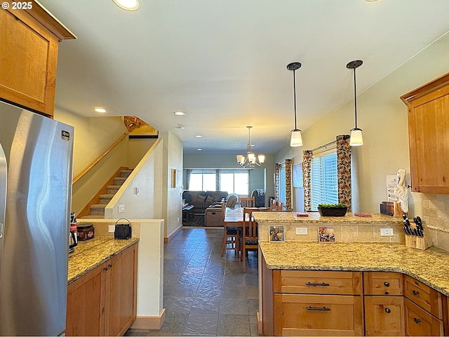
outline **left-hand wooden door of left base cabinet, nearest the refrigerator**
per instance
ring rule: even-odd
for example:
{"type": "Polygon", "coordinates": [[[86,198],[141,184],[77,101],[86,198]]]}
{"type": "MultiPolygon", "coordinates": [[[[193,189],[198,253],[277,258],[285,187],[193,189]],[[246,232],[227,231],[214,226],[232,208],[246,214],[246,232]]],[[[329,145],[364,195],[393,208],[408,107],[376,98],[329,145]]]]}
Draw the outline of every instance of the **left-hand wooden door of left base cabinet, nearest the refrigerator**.
{"type": "Polygon", "coordinates": [[[105,267],[100,265],[67,286],[66,336],[105,334],[105,267]]]}

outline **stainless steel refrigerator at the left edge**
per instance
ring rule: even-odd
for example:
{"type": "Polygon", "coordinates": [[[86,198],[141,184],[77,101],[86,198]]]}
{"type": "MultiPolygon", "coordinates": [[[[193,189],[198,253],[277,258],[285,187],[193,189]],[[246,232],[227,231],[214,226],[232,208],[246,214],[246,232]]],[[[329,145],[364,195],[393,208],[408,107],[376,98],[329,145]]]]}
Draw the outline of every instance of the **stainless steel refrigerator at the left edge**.
{"type": "Polygon", "coordinates": [[[0,103],[0,335],[65,330],[73,127],[0,103]]]}

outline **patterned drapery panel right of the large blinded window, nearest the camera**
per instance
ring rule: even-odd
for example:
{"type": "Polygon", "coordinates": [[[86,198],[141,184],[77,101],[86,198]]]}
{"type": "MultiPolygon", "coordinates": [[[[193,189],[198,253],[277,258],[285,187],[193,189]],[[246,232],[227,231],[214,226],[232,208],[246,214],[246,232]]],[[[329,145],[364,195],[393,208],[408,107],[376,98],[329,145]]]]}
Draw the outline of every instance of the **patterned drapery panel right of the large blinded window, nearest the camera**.
{"type": "Polygon", "coordinates": [[[349,135],[337,136],[338,202],[348,205],[351,211],[351,145],[349,135]]]}

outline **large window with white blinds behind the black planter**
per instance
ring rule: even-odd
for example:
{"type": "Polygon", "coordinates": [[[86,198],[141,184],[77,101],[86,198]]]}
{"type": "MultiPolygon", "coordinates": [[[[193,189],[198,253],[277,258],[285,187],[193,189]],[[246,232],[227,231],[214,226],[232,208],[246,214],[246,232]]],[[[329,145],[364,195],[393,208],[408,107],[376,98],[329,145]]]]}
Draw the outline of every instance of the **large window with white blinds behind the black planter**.
{"type": "Polygon", "coordinates": [[[311,210],[319,204],[338,202],[337,152],[315,155],[311,159],[311,210]]]}

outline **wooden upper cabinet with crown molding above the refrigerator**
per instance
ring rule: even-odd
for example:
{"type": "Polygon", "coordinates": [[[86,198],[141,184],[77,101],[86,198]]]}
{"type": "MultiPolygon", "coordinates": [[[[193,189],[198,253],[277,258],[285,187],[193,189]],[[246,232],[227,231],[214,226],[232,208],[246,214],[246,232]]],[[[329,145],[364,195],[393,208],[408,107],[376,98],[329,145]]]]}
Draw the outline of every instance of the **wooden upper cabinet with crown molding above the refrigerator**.
{"type": "Polygon", "coordinates": [[[76,37],[35,1],[4,4],[9,8],[0,9],[0,100],[53,116],[58,42],[76,37]]]}

